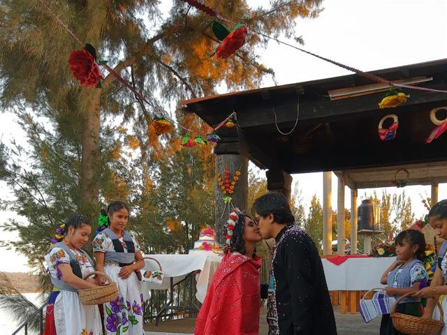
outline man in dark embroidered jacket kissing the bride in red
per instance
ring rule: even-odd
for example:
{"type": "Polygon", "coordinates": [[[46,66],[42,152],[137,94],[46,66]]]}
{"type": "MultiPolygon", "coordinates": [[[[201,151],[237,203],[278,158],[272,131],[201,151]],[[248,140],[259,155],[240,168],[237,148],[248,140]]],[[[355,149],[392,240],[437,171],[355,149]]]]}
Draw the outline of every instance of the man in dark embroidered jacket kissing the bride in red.
{"type": "Polygon", "coordinates": [[[334,312],[318,250],[295,225],[282,193],[267,193],[253,204],[263,239],[274,238],[268,288],[269,335],[335,335],[334,312]]]}

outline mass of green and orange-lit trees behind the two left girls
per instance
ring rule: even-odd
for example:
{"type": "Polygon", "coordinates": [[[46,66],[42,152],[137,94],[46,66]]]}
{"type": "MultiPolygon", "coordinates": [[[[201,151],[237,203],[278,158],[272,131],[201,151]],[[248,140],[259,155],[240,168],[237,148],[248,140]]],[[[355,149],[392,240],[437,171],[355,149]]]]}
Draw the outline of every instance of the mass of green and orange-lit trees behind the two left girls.
{"type": "MultiPolygon", "coordinates": [[[[67,216],[83,211],[96,222],[101,204],[119,199],[133,207],[129,228],[144,248],[191,247],[200,227],[214,221],[210,149],[179,151],[179,133],[163,135],[156,146],[149,124],[163,104],[213,94],[221,83],[228,89],[258,87],[264,75],[273,74],[255,54],[267,40],[249,34],[234,57],[211,59],[206,54],[217,40],[210,17],[183,1],[173,1],[166,15],[155,0],[46,3],[149,104],[103,68],[101,89],[81,87],[67,64],[71,51],[81,48],[73,37],[44,6],[1,1],[0,108],[15,110],[29,142],[26,148],[13,143],[1,150],[0,177],[15,195],[1,205],[26,218],[4,223],[20,237],[6,244],[43,271],[49,240],[67,216]]],[[[320,3],[278,0],[272,8],[255,9],[242,0],[207,5],[264,34],[290,37],[295,19],[315,17],[320,3]]],[[[205,128],[193,117],[177,117],[186,126],[205,128]]]]}

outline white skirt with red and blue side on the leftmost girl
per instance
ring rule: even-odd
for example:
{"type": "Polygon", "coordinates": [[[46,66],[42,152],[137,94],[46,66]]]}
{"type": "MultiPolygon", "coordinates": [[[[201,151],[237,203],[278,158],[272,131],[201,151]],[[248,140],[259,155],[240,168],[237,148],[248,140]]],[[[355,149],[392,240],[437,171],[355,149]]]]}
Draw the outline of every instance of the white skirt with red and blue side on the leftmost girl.
{"type": "Polygon", "coordinates": [[[98,306],[81,304],[77,292],[52,292],[45,316],[44,334],[102,335],[98,306]]]}

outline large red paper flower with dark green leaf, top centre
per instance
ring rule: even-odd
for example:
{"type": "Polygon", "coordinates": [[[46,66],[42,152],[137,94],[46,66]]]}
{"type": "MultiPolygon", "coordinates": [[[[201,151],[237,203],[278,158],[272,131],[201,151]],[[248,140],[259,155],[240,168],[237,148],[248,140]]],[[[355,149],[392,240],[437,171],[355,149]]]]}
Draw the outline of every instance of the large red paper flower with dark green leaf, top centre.
{"type": "Polygon", "coordinates": [[[245,38],[247,37],[247,27],[245,27],[244,24],[237,24],[233,31],[230,31],[230,29],[223,24],[214,21],[212,24],[212,31],[217,39],[222,42],[210,55],[211,57],[214,56],[214,54],[223,59],[230,57],[245,44],[245,38]]]}

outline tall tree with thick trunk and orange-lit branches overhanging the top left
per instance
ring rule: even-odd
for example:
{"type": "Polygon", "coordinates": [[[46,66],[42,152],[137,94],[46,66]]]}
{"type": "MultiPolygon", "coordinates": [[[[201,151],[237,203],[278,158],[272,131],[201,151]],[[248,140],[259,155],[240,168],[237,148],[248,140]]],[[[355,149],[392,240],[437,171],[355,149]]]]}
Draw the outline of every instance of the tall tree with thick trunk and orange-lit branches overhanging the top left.
{"type": "MultiPolygon", "coordinates": [[[[207,57],[217,40],[210,17],[173,1],[162,15],[155,0],[45,1],[54,15],[82,43],[96,47],[101,58],[144,96],[142,103],[104,73],[102,89],[80,87],[67,59],[80,45],[45,6],[28,0],[2,1],[0,7],[1,107],[24,102],[34,110],[50,110],[54,119],[76,116],[80,137],[80,208],[93,216],[98,209],[101,174],[101,115],[133,119],[147,129],[160,105],[182,98],[212,94],[217,84],[229,89],[253,88],[272,70],[256,61],[255,49],[267,39],[250,34],[243,50],[228,60],[207,57]]],[[[321,0],[274,1],[272,8],[250,8],[246,1],[207,1],[222,16],[246,22],[263,34],[292,36],[297,17],[316,17],[321,0]]],[[[147,133],[147,132],[146,132],[147,133]]],[[[153,135],[152,135],[153,136],[153,135]]],[[[150,139],[156,142],[154,138],[150,139]]]]}

